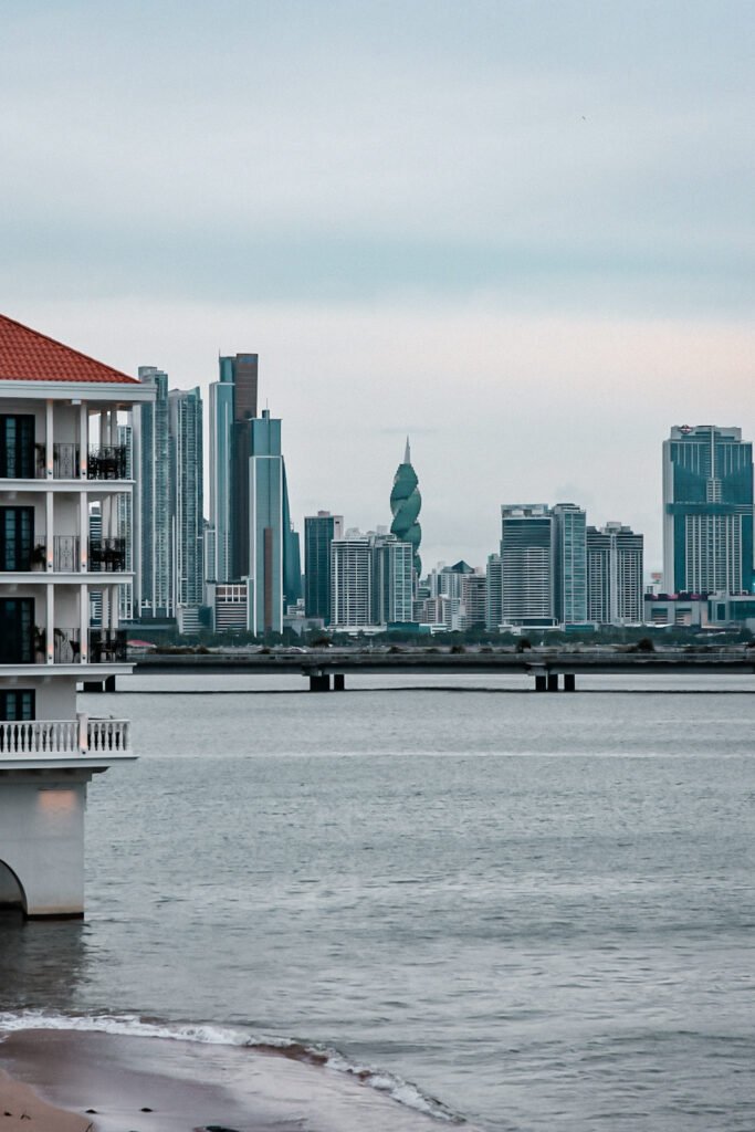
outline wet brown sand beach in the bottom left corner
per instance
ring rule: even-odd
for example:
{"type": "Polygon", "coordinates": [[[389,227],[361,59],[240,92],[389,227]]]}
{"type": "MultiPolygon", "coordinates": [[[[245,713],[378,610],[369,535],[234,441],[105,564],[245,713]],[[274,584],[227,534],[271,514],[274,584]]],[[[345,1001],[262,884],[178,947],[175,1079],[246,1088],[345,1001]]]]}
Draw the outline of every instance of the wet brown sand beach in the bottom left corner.
{"type": "Polygon", "coordinates": [[[0,1097],[8,1098],[0,1104],[0,1132],[429,1132],[439,1126],[354,1078],[243,1046],[26,1029],[0,1041],[0,1066],[12,1079],[0,1081],[0,1097]],[[3,1110],[14,1115],[3,1117],[3,1110]]]}

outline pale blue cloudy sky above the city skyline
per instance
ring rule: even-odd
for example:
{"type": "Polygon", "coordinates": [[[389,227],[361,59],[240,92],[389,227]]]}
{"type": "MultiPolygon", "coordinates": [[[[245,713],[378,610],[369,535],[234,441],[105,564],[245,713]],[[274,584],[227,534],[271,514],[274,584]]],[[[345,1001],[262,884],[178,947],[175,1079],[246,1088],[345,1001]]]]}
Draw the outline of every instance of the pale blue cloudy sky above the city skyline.
{"type": "MultiPolygon", "coordinates": [[[[755,437],[752,0],[24,0],[0,310],[207,389],[258,352],[292,516],[426,567],[505,503],[661,561],[672,424],[755,437]]],[[[208,415],[208,406],[206,409],[208,415]]]]}

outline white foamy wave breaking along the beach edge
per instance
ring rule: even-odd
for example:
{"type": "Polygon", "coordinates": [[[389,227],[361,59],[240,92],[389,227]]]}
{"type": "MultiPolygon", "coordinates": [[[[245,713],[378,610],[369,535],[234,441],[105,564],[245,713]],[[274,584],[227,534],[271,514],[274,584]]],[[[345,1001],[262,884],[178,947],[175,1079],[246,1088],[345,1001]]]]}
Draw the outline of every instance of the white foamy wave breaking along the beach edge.
{"type": "Polygon", "coordinates": [[[422,1092],[411,1081],[385,1070],[361,1065],[350,1061],[337,1049],[327,1046],[306,1045],[293,1038],[267,1035],[250,1035],[238,1027],[216,1026],[207,1022],[158,1022],[138,1014],[58,1014],[41,1010],[9,1013],[0,1011],[0,1041],[2,1036],[18,1030],[81,1030],[100,1034],[117,1034],[123,1037],[162,1038],[173,1041],[196,1041],[212,1046],[238,1046],[256,1053],[320,1066],[336,1073],[345,1073],[360,1084],[385,1094],[397,1104],[413,1108],[437,1121],[449,1124],[465,1124],[463,1116],[447,1105],[422,1092]]]}

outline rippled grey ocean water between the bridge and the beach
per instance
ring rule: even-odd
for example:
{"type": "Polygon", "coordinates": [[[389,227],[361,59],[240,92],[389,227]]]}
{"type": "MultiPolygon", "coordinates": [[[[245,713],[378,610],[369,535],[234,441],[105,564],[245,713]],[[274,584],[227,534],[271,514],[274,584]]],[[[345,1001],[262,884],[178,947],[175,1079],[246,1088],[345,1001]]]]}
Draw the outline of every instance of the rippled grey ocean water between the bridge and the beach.
{"type": "Polygon", "coordinates": [[[0,1024],[294,1043],[402,1127],[752,1132],[755,678],[391,683],[83,697],[141,757],[86,921],[0,921],[0,1024]]]}

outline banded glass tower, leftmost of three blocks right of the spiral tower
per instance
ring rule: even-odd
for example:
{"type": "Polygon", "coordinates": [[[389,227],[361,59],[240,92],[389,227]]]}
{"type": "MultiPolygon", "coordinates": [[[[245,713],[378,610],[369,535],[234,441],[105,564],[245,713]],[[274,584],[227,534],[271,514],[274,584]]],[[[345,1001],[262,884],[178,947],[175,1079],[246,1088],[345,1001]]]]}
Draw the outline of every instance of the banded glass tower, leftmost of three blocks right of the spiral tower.
{"type": "Polygon", "coordinates": [[[513,625],[556,620],[554,514],[544,504],[500,508],[501,619],[513,625]]]}

